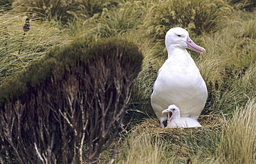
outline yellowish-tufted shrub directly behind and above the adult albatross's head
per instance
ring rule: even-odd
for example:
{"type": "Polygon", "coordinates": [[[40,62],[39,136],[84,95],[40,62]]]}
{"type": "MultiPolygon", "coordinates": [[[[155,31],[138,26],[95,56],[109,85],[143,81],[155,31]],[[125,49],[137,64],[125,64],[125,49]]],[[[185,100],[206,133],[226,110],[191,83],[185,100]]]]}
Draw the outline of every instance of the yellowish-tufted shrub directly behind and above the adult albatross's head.
{"type": "Polygon", "coordinates": [[[165,32],[176,26],[186,28],[197,35],[215,32],[222,27],[223,19],[231,10],[228,3],[223,0],[160,1],[152,6],[151,13],[145,21],[145,28],[158,39],[164,39],[165,32]]]}

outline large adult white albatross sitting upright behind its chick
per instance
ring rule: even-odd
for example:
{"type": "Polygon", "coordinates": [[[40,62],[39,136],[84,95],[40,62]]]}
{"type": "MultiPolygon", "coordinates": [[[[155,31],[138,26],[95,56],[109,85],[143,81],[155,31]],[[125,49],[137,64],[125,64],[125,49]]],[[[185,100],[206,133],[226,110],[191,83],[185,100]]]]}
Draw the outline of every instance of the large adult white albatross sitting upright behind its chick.
{"type": "Polygon", "coordinates": [[[162,112],[170,104],[179,107],[181,117],[198,119],[208,94],[205,81],[186,50],[189,48],[206,54],[205,49],[196,45],[183,28],[170,29],[165,35],[165,45],[168,59],[158,71],[151,96],[151,104],[161,127],[167,120],[162,112]]]}

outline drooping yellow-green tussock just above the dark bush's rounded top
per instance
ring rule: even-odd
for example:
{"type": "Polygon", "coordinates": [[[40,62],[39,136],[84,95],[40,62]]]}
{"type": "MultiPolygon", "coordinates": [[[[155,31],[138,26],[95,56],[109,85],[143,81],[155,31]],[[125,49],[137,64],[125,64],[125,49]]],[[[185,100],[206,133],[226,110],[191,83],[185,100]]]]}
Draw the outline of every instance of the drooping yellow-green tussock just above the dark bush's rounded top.
{"type": "Polygon", "coordinates": [[[121,3],[116,10],[104,8],[102,13],[95,14],[84,25],[92,28],[91,34],[100,37],[111,37],[125,34],[125,32],[138,28],[143,22],[145,8],[139,2],[121,3]]]}

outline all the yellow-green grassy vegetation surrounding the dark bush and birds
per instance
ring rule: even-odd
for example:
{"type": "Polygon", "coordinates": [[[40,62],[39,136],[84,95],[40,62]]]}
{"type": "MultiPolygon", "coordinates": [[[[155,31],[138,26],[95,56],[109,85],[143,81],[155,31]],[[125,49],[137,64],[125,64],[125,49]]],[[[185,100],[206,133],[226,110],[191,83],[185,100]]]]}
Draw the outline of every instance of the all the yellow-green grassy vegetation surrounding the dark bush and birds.
{"type": "Polygon", "coordinates": [[[121,38],[135,43],[143,54],[124,119],[128,132],[116,139],[118,149],[111,145],[100,154],[98,163],[255,163],[255,1],[23,2],[6,1],[12,3],[12,10],[0,7],[2,88],[51,48],[77,39],[121,38]],[[44,6],[46,2],[49,6],[44,6]],[[30,30],[24,35],[26,18],[30,18],[30,30]],[[202,115],[210,116],[201,117],[203,128],[158,128],[150,105],[157,71],[167,59],[165,32],[175,26],[188,30],[207,51],[205,56],[190,51],[208,87],[202,115]],[[217,119],[203,124],[207,118],[217,119]]]}

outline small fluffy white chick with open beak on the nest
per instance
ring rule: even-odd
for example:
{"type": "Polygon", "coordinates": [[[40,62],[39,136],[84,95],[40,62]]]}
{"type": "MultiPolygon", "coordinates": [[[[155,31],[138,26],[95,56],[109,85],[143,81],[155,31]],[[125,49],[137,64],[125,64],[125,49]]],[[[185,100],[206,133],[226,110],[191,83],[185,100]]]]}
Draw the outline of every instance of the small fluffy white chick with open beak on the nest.
{"type": "Polygon", "coordinates": [[[170,105],[162,114],[167,113],[167,126],[166,127],[201,127],[202,125],[190,117],[181,117],[179,107],[170,105]],[[172,113],[172,115],[170,115],[172,113]]]}

